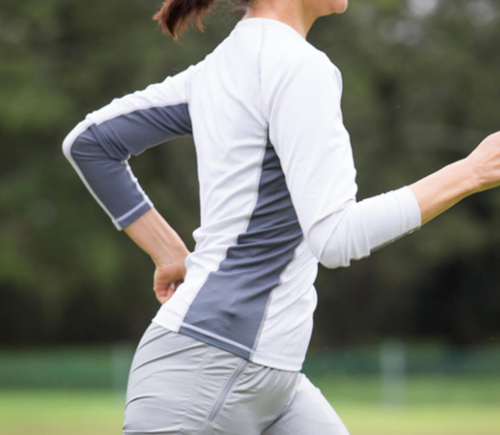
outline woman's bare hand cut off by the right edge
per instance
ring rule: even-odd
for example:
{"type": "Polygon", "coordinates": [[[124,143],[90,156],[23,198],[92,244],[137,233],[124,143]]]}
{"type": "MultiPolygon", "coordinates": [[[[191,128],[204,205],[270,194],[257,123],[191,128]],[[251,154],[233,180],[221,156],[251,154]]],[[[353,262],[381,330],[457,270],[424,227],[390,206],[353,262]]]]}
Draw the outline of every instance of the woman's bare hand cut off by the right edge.
{"type": "Polygon", "coordinates": [[[500,132],[488,136],[467,157],[477,179],[477,192],[500,186],[500,132]]]}

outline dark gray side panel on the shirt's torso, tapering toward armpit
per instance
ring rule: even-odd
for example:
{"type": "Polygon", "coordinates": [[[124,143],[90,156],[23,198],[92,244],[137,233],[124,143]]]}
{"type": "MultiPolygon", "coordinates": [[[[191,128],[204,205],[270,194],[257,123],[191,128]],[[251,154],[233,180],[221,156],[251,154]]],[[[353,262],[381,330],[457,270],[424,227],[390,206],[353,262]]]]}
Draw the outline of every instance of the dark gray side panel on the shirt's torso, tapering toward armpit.
{"type": "Polygon", "coordinates": [[[247,231],[210,273],[179,332],[250,358],[271,291],[302,238],[279,158],[268,143],[247,231]]]}

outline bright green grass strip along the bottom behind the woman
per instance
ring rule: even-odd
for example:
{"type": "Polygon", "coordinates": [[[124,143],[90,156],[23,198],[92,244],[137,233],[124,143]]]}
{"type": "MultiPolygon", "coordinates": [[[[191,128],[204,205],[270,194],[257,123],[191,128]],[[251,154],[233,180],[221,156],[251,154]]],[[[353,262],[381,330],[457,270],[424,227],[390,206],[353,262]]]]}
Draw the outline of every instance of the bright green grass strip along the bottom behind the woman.
{"type": "MultiPolygon", "coordinates": [[[[109,393],[2,392],[2,435],[119,435],[123,406],[109,393]]],[[[351,435],[499,435],[498,405],[418,405],[383,409],[338,404],[351,435]]]]}

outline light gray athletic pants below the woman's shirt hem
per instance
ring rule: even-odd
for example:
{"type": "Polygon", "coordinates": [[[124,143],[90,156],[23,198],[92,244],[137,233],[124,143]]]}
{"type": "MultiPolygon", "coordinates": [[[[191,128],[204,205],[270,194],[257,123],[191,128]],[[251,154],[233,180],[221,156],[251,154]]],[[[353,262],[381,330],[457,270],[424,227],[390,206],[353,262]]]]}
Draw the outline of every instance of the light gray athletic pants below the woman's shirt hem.
{"type": "Polygon", "coordinates": [[[125,435],[349,435],[305,375],[151,324],[132,363],[125,435]]]}

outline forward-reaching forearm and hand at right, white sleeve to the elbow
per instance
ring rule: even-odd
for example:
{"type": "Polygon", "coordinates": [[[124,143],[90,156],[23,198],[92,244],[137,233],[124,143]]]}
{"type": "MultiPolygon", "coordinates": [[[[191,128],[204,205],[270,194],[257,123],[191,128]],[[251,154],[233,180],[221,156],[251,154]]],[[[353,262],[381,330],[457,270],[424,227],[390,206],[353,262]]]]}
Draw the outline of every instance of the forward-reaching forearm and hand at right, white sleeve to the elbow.
{"type": "Polygon", "coordinates": [[[411,234],[465,197],[499,185],[500,133],[496,133],[468,158],[409,188],[360,202],[353,200],[324,220],[315,221],[309,238],[313,246],[320,247],[319,258],[325,266],[347,266],[351,260],[411,234]]]}

